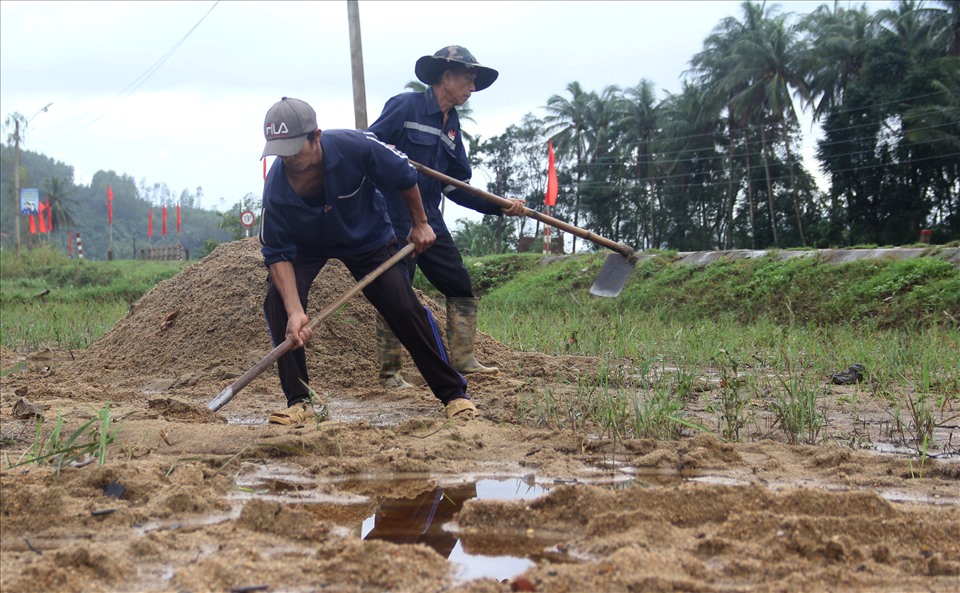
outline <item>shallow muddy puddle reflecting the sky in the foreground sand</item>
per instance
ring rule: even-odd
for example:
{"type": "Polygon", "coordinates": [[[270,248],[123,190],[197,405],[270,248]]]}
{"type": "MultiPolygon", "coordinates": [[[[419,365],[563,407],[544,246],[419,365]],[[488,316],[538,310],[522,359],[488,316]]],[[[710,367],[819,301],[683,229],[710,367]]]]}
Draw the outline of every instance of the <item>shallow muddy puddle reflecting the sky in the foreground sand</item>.
{"type": "MultiPolygon", "coordinates": [[[[253,499],[269,500],[310,513],[318,520],[339,526],[345,537],[363,541],[387,541],[394,544],[422,544],[451,563],[454,578],[459,582],[493,578],[501,582],[522,574],[543,562],[578,563],[590,560],[563,546],[550,545],[533,530],[484,532],[482,536],[464,534],[456,522],[465,503],[532,502],[563,486],[591,484],[606,491],[631,487],[677,487],[684,483],[724,486],[748,490],[750,480],[728,475],[712,475],[697,471],[678,472],[633,467],[606,462],[598,470],[605,477],[594,479],[537,480],[526,477],[461,476],[438,478],[430,475],[366,475],[345,479],[311,476],[297,466],[249,465],[235,477],[235,488],[229,498],[234,502],[253,499]],[[391,493],[404,492],[402,496],[391,493]],[[365,493],[365,494],[364,494],[365,493]],[[387,493],[387,494],[379,494],[387,493]],[[510,553],[501,553],[502,542],[510,541],[510,553]]],[[[797,486],[790,482],[771,481],[773,490],[797,486]]],[[[846,492],[839,484],[804,480],[805,488],[846,492]]],[[[888,489],[880,496],[892,503],[922,505],[960,505],[960,497],[917,495],[888,489]]],[[[235,507],[236,509],[236,507],[235,507]]],[[[596,514],[601,514],[597,509],[596,514]]],[[[203,521],[235,520],[231,516],[206,518],[203,521]]],[[[201,521],[200,523],[203,523],[201,521]]],[[[199,523],[198,523],[199,524],[199,523]]]]}

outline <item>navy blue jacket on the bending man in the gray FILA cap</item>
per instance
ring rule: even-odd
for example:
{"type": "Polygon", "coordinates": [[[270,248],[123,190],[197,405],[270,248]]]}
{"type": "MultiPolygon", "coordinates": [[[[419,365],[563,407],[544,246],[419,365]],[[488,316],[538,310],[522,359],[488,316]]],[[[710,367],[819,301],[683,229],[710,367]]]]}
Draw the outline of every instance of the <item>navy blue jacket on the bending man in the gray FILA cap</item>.
{"type": "Polygon", "coordinates": [[[298,196],[279,158],[267,173],[260,244],[268,267],[293,261],[298,251],[337,258],[366,253],[394,240],[381,192],[406,211],[399,191],[417,182],[416,169],[403,155],[357,130],[326,130],[320,135],[320,146],[324,196],[309,201],[298,196]]]}

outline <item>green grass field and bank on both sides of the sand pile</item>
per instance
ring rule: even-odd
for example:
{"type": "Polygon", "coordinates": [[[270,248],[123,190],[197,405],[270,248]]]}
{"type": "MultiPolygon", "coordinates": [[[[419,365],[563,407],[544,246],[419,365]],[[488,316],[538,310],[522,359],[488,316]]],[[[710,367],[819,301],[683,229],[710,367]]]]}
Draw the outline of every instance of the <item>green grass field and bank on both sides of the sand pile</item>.
{"type": "MultiPolygon", "coordinates": [[[[0,257],[2,343],[20,352],[86,347],[184,265],[78,262],[43,250],[0,257]]],[[[467,262],[483,295],[482,331],[516,350],[606,361],[579,379],[572,404],[550,393],[522,402],[524,421],[675,436],[692,427],[684,410],[711,373],[726,385],[708,407],[720,436],[739,438],[750,407],[767,397],[791,440],[813,441],[825,380],[854,362],[871,391],[903,411],[918,446],[960,404],[960,270],[948,262],[750,259],[698,268],[663,254],[607,299],[587,292],[604,257],[467,262]]],[[[416,285],[431,293],[422,277],[416,285]]]]}

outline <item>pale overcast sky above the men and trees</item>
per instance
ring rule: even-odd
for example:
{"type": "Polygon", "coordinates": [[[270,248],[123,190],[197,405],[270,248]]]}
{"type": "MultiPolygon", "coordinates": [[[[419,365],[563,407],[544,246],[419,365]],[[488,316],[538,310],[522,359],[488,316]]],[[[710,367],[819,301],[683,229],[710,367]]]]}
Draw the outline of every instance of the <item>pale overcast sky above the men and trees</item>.
{"type": "MultiPolygon", "coordinates": [[[[822,3],[779,5],[802,14],[822,3]]],[[[731,1],[359,8],[369,123],[415,80],[417,58],[457,44],[500,72],[470,101],[470,131],[483,137],[526,113],[542,117],[573,81],[601,91],[646,78],[659,98],[678,92],[704,38],[724,17],[742,16],[731,1]]],[[[346,0],[0,2],[0,116],[33,118],[24,147],[72,165],[78,183],[112,170],[176,195],[202,187],[201,205],[217,209],[259,196],[261,126],[281,96],[310,102],[321,128],[355,127],[346,0]]],[[[452,209],[448,224],[465,213],[452,209]]]]}

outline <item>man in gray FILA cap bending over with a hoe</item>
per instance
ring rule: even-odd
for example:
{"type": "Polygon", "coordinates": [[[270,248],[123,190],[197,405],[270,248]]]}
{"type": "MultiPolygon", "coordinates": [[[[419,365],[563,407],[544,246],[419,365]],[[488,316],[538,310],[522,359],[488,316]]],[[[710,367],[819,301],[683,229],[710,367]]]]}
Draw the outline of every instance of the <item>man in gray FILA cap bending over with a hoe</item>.
{"type": "MultiPolygon", "coordinates": [[[[416,171],[372,134],[321,132],[310,105],[284,97],[267,112],[264,136],[261,158],[279,158],[263,186],[260,244],[270,270],[263,312],[274,346],[289,339],[295,348],[277,361],[287,409],[271,414],[270,422],[300,424],[308,417],[307,295],[327,260],[339,259],[360,280],[397,253],[385,191],[413,221],[401,240],[414,243],[414,253],[424,253],[436,235],[423,211],[416,171]]],[[[433,316],[417,299],[406,269],[401,264],[387,269],[363,294],[410,352],[447,416],[476,414],[466,381],[450,365],[433,316]]]]}

